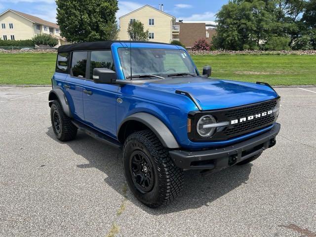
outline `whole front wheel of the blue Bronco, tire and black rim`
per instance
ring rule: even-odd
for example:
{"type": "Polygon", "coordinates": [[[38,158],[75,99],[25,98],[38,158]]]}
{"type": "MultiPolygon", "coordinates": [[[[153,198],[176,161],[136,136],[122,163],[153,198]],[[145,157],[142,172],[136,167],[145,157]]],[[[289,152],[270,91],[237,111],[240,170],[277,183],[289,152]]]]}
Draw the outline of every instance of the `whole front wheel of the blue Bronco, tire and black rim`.
{"type": "Polygon", "coordinates": [[[175,166],[151,130],[129,135],[123,147],[123,168],[135,197],[149,207],[174,200],[183,184],[183,171],[175,166]]]}

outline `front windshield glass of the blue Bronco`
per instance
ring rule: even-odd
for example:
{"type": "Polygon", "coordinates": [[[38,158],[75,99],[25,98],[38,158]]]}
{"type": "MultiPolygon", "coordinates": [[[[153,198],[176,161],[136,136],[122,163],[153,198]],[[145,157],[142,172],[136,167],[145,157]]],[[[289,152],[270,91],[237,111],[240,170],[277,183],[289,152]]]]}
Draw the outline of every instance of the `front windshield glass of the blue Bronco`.
{"type": "Polygon", "coordinates": [[[196,75],[195,65],[184,50],[118,48],[118,55],[125,78],[130,78],[130,67],[132,67],[133,78],[141,75],[161,77],[175,74],[196,75]]]}

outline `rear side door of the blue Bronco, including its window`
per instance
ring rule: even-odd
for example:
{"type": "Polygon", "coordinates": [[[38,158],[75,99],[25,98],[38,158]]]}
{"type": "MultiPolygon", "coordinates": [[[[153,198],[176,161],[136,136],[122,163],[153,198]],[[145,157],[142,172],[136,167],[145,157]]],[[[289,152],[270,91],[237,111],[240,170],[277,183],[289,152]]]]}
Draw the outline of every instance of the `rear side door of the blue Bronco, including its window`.
{"type": "Polygon", "coordinates": [[[65,95],[74,118],[84,120],[82,93],[86,79],[87,51],[73,52],[70,75],[64,84],[65,95]]]}

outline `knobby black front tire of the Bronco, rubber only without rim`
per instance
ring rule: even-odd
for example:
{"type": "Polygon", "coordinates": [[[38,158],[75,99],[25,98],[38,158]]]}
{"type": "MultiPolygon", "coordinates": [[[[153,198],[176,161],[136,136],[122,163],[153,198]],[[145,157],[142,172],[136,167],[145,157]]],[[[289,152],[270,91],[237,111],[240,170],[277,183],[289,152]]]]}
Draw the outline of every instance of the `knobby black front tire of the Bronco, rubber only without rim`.
{"type": "Polygon", "coordinates": [[[183,170],[175,166],[168,151],[151,130],[137,131],[127,137],[123,146],[123,168],[129,188],[138,200],[149,207],[168,204],[182,190],[183,170]],[[145,154],[154,171],[154,186],[145,193],[137,188],[132,174],[131,162],[135,152],[145,154]]]}

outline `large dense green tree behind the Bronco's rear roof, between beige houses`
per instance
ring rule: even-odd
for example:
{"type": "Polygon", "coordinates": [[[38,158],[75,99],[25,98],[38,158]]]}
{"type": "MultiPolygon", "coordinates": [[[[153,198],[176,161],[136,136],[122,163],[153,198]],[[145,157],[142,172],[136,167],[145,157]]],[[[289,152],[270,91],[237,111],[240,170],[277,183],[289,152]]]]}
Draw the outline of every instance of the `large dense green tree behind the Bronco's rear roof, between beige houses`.
{"type": "Polygon", "coordinates": [[[117,0],[56,0],[61,35],[72,42],[115,40],[117,0]]]}

